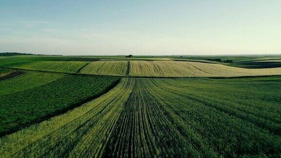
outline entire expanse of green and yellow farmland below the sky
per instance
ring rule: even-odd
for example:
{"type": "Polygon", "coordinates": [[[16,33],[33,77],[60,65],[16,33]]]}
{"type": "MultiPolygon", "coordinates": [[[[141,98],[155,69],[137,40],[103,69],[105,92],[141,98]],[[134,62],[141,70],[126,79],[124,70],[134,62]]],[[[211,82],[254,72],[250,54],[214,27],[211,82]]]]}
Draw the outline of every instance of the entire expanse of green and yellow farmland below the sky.
{"type": "Polygon", "coordinates": [[[0,59],[0,158],[281,157],[281,67],[265,61],[280,62],[0,59]]]}

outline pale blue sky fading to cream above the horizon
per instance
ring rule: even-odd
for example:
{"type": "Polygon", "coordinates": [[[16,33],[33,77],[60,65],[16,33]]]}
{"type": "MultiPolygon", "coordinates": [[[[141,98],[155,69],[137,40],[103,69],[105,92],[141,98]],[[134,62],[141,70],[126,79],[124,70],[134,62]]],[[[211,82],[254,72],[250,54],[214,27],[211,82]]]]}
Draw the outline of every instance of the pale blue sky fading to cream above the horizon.
{"type": "Polygon", "coordinates": [[[281,0],[0,0],[0,52],[281,54],[281,0]]]}

